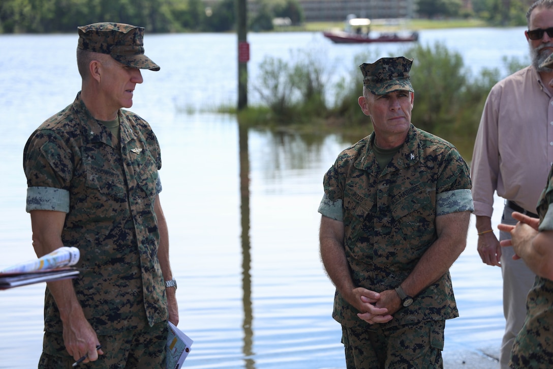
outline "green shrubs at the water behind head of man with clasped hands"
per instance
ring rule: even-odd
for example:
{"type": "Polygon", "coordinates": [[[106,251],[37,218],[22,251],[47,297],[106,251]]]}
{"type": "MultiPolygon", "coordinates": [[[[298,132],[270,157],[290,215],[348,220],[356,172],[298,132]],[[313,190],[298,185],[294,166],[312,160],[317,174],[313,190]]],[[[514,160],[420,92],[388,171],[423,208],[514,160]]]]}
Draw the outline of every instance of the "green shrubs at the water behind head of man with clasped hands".
{"type": "MultiPolygon", "coordinates": [[[[484,68],[472,76],[461,54],[451,52],[441,43],[414,44],[401,55],[414,59],[410,73],[415,90],[413,124],[446,139],[455,136],[467,142],[476,135],[492,86],[503,76],[527,65],[525,60],[503,57],[504,75],[498,68],[484,68]]],[[[324,121],[334,129],[359,131],[361,127],[362,131],[370,132],[371,120],[357,102],[362,95],[358,65],[378,58],[368,53],[356,55],[351,71],[337,81],[328,79],[331,65],[324,53],[300,50],[291,55],[289,62],[265,58],[259,68],[259,80],[253,87],[267,110],[251,114],[248,124],[255,117],[259,121],[254,124],[265,126],[271,123],[314,126],[324,121]]]]}

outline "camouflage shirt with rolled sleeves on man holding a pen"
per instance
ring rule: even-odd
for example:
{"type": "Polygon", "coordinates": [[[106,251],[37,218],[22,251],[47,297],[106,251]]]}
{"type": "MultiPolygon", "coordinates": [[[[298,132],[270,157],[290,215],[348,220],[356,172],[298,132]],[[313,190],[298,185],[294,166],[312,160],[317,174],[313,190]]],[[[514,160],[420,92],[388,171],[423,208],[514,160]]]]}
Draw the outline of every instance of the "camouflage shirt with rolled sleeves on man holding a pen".
{"type": "MultiPolygon", "coordinates": [[[[77,298],[97,334],[167,319],[154,212],[159,143],[146,121],[119,110],[121,147],[75,102],[46,120],[25,145],[27,211],[66,214],[62,241],[79,248],[77,298]]],[[[46,289],[45,330],[61,332],[46,289]]]]}

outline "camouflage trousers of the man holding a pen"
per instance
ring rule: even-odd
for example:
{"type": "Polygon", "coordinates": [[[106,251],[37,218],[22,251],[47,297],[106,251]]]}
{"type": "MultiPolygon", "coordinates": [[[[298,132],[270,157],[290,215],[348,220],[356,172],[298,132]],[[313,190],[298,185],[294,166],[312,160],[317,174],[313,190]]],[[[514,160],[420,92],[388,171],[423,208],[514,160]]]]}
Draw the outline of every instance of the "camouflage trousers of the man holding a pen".
{"type": "MultiPolygon", "coordinates": [[[[94,369],[152,369],[165,368],[165,350],[168,324],[166,321],[141,330],[127,330],[118,334],[98,336],[103,355],[98,360],[82,363],[79,367],[94,369]]],[[[65,350],[61,334],[44,332],[43,353],[39,369],[71,368],[75,358],[65,350]]]]}

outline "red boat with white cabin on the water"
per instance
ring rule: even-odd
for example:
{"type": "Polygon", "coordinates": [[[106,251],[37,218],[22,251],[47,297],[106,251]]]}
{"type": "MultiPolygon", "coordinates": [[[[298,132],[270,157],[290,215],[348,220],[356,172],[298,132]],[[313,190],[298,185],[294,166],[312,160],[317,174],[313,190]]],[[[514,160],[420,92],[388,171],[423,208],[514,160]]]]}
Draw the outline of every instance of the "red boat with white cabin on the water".
{"type": "MultiPolygon", "coordinates": [[[[379,23],[383,22],[384,20],[380,20],[379,23]]],[[[371,32],[371,24],[373,22],[369,18],[348,16],[343,30],[326,30],[323,35],[337,44],[412,42],[419,39],[418,32],[371,32]]]]}

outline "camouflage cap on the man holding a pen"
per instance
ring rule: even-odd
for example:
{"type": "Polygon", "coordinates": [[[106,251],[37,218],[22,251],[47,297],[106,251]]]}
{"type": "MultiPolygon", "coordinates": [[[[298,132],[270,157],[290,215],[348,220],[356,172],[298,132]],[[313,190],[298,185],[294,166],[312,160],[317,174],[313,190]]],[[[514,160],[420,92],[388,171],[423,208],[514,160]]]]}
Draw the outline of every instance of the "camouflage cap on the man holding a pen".
{"type": "Polygon", "coordinates": [[[159,65],[144,55],[144,28],[123,23],[94,23],[78,27],[77,48],[109,54],[119,63],[133,68],[159,70],[159,65]]]}

